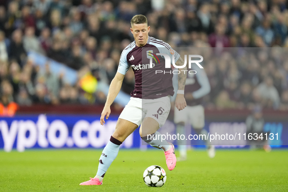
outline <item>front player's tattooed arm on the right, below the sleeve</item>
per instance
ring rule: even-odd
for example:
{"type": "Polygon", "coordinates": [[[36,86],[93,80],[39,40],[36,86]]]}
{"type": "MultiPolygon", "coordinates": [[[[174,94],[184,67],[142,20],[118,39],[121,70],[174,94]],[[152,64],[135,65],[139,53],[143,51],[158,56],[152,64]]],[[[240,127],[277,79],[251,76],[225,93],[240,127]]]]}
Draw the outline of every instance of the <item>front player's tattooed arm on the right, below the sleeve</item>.
{"type": "MultiPolygon", "coordinates": [[[[177,66],[184,65],[183,59],[180,57],[176,61],[175,65],[177,66]]],[[[186,78],[187,78],[187,73],[185,73],[185,71],[187,71],[187,66],[185,66],[184,68],[181,68],[180,73],[178,74],[178,90],[183,91],[183,92],[184,92],[186,78]]],[[[177,94],[176,100],[175,100],[175,106],[179,111],[184,109],[187,106],[186,100],[184,98],[184,94],[180,94],[180,93],[177,94]]]]}

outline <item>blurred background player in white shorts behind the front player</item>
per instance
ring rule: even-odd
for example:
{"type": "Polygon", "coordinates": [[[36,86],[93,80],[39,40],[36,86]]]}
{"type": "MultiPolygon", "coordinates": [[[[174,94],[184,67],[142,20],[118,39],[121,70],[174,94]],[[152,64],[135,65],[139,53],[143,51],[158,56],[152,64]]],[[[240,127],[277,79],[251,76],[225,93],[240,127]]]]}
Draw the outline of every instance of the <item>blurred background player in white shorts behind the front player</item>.
{"type": "MultiPolygon", "coordinates": [[[[211,87],[204,69],[200,69],[195,65],[191,67],[192,68],[188,70],[185,83],[184,97],[187,101],[187,107],[182,111],[175,110],[174,123],[176,123],[176,131],[178,134],[185,134],[184,128],[187,123],[189,123],[198,135],[206,135],[204,142],[207,145],[209,157],[213,158],[215,156],[215,148],[213,145],[209,145],[207,138],[208,133],[203,129],[205,125],[205,115],[204,107],[201,105],[203,97],[210,93],[211,87]],[[196,74],[194,74],[195,71],[196,74]]],[[[178,150],[180,153],[178,160],[186,160],[186,140],[178,140],[178,150]]]]}

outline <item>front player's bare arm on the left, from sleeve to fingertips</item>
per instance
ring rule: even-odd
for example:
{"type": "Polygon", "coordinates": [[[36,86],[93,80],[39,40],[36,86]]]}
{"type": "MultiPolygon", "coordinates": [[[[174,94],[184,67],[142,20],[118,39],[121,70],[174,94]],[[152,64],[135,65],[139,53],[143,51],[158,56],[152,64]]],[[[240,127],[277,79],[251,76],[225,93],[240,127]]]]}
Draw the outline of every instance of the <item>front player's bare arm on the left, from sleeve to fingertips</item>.
{"type": "Polygon", "coordinates": [[[100,124],[101,125],[103,125],[105,123],[105,120],[104,120],[105,115],[106,115],[106,119],[108,119],[108,117],[111,113],[110,106],[112,105],[114,99],[116,98],[116,96],[120,92],[123,79],[124,79],[124,75],[117,72],[115,77],[111,81],[107,100],[106,100],[106,103],[105,103],[105,106],[104,106],[104,109],[102,111],[101,118],[100,118],[100,124]]]}

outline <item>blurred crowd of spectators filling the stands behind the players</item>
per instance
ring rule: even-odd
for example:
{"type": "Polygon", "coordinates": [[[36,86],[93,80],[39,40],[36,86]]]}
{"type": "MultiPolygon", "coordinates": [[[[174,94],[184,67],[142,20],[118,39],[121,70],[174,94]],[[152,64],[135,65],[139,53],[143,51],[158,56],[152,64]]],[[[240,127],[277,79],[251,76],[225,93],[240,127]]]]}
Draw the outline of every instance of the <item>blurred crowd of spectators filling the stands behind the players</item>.
{"type": "MultiPolygon", "coordinates": [[[[100,91],[65,83],[49,62],[40,70],[28,53],[77,70],[79,79],[91,72],[110,84],[122,50],[134,40],[130,20],[136,14],[148,18],[150,36],[172,47],[288,47],[286,0],[0,0],[1,103],[104,103],[100,91]]],[[[206,63],[211,93],[205,106],[249,108],[260,102],[288,110],[288,63],[267,52],[247,57],[250,64],[233,54],[206,63]]],[[[130,69],[122,91],[133,88],[130,69]]]]}

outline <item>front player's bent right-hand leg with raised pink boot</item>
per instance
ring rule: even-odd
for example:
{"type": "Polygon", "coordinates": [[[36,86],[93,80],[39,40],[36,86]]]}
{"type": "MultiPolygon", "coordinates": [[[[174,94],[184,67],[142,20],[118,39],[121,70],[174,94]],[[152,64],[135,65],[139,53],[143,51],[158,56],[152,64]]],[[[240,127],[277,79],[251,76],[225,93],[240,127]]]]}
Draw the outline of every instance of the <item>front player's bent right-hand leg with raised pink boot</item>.
{"type": "Polygon", "coordinates": [[[149,143],[152,147],[163,149],[167,167],[171,171],[176,166],[174,145],[172,143],[168,143],[166,140],[162,140],[161,134],[157,132],[158,129],[159,123],[154,118],[145,117],[140,127],[139,134],[143,141],[149,143]],[[149,134],[153,135],[152,138],[147,136],[149,134]]]}

